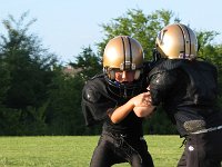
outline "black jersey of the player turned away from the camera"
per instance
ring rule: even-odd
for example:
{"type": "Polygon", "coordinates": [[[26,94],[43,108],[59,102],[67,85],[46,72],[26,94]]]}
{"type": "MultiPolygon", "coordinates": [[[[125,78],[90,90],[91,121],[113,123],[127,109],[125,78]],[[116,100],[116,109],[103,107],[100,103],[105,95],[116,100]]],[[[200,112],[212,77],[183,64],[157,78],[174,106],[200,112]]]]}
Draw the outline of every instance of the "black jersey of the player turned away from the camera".
{"type": "Polygon", "coordinates": [[[218,112],[216,78],[216,68],[205,61],[160,60],[149,75],[152,104],[162,104],[182,136],[188,132],[184,122],[189,120],[204,121],[206,127],[221,124],[209,119],[218,112]]]}

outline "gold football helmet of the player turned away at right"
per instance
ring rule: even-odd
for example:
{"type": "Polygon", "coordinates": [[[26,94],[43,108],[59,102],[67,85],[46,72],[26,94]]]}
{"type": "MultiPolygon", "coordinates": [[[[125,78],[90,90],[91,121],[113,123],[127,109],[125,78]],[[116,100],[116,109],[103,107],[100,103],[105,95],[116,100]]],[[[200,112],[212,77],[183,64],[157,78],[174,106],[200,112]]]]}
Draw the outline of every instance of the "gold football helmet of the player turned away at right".
{"type": "Polygon", "coordinates": [[[198,40],[192,29],[182,23],[173,23],[159,32],[155,48],[162,58],[194,59],[198,52],[198,40]]]}

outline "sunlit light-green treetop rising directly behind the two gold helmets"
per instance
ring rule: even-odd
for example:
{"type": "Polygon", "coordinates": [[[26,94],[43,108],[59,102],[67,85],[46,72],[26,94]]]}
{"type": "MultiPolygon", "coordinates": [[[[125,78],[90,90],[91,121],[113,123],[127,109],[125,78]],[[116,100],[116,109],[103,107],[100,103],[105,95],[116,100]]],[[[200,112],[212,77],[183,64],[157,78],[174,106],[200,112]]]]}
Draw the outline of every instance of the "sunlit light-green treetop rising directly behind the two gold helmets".
{"type": "Polygon", "coordinates": [[[158,32],[169,24],[173,18],[173,12],[169,10],[157,10],[151,14],[143,13],[140,9],[128,10],[125,16],[112,19],[110,23],[101,24],[104,31],[102,42],[98,43],[99,55],[102,56],[107,42],[115,36],[131,36],[140,41],[145,52],[145,58],[152,58],[155,37],[158,32]]]}

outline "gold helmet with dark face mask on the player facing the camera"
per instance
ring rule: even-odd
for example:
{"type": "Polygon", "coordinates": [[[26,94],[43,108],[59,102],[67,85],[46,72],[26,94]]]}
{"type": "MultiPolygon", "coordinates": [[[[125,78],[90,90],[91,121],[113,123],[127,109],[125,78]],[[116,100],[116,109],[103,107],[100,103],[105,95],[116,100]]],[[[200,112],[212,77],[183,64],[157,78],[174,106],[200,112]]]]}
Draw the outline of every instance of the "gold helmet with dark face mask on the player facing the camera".
{"type": "Polygon", "coordinates": [[[141,92],[144,78],[143,72],[143,49],[139,41],[128,36],[118,36],[111,39],[104,48],[103,71],[109,84],[108,89],[123,98],[129,98],[141,92]],[[118,82],[117,71],[133,70],[132,82],[118,82]]]}

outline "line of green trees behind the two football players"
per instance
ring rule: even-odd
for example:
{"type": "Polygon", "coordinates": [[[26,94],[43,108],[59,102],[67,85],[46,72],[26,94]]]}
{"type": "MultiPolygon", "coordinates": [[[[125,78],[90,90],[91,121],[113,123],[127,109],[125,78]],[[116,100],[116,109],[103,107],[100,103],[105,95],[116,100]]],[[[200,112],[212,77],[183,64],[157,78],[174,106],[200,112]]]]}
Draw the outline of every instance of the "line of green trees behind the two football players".
{"type": "MultiPolygon", "coordinates": [[[[81,94],[84,82],[102,72],[102,53],[107,42],[119,35],[138,39],[144,50],[145,60],[152,59],[155,37],[169,23],[181,22],[172,11],[157,10],[145,14],[140,9],[130,9],[124,16],[102,23],[103,39],[91,47],[82,48],[70,61],[74,75],[65,73],[56,53],[43,48],[38,36],[29,32],[28,12],[19,20],[9,16],[2,20],[7,35],[0,37],[0,135],[97,135],[101,126],[85,127],[81,111],[81,94]]],[[[213,62],[222,84],[222,43],[212,41],[216,31],[195,30],[199,40],[199,57],[213,62]]],[[[1,31],[0,31],[1,33],[1,31]]],[[[219,106],[222,104],[219,89],[219,106]]],[[[145,134],[176,134],[170,120],[158,108],[144,121],[145,134]]]]}

